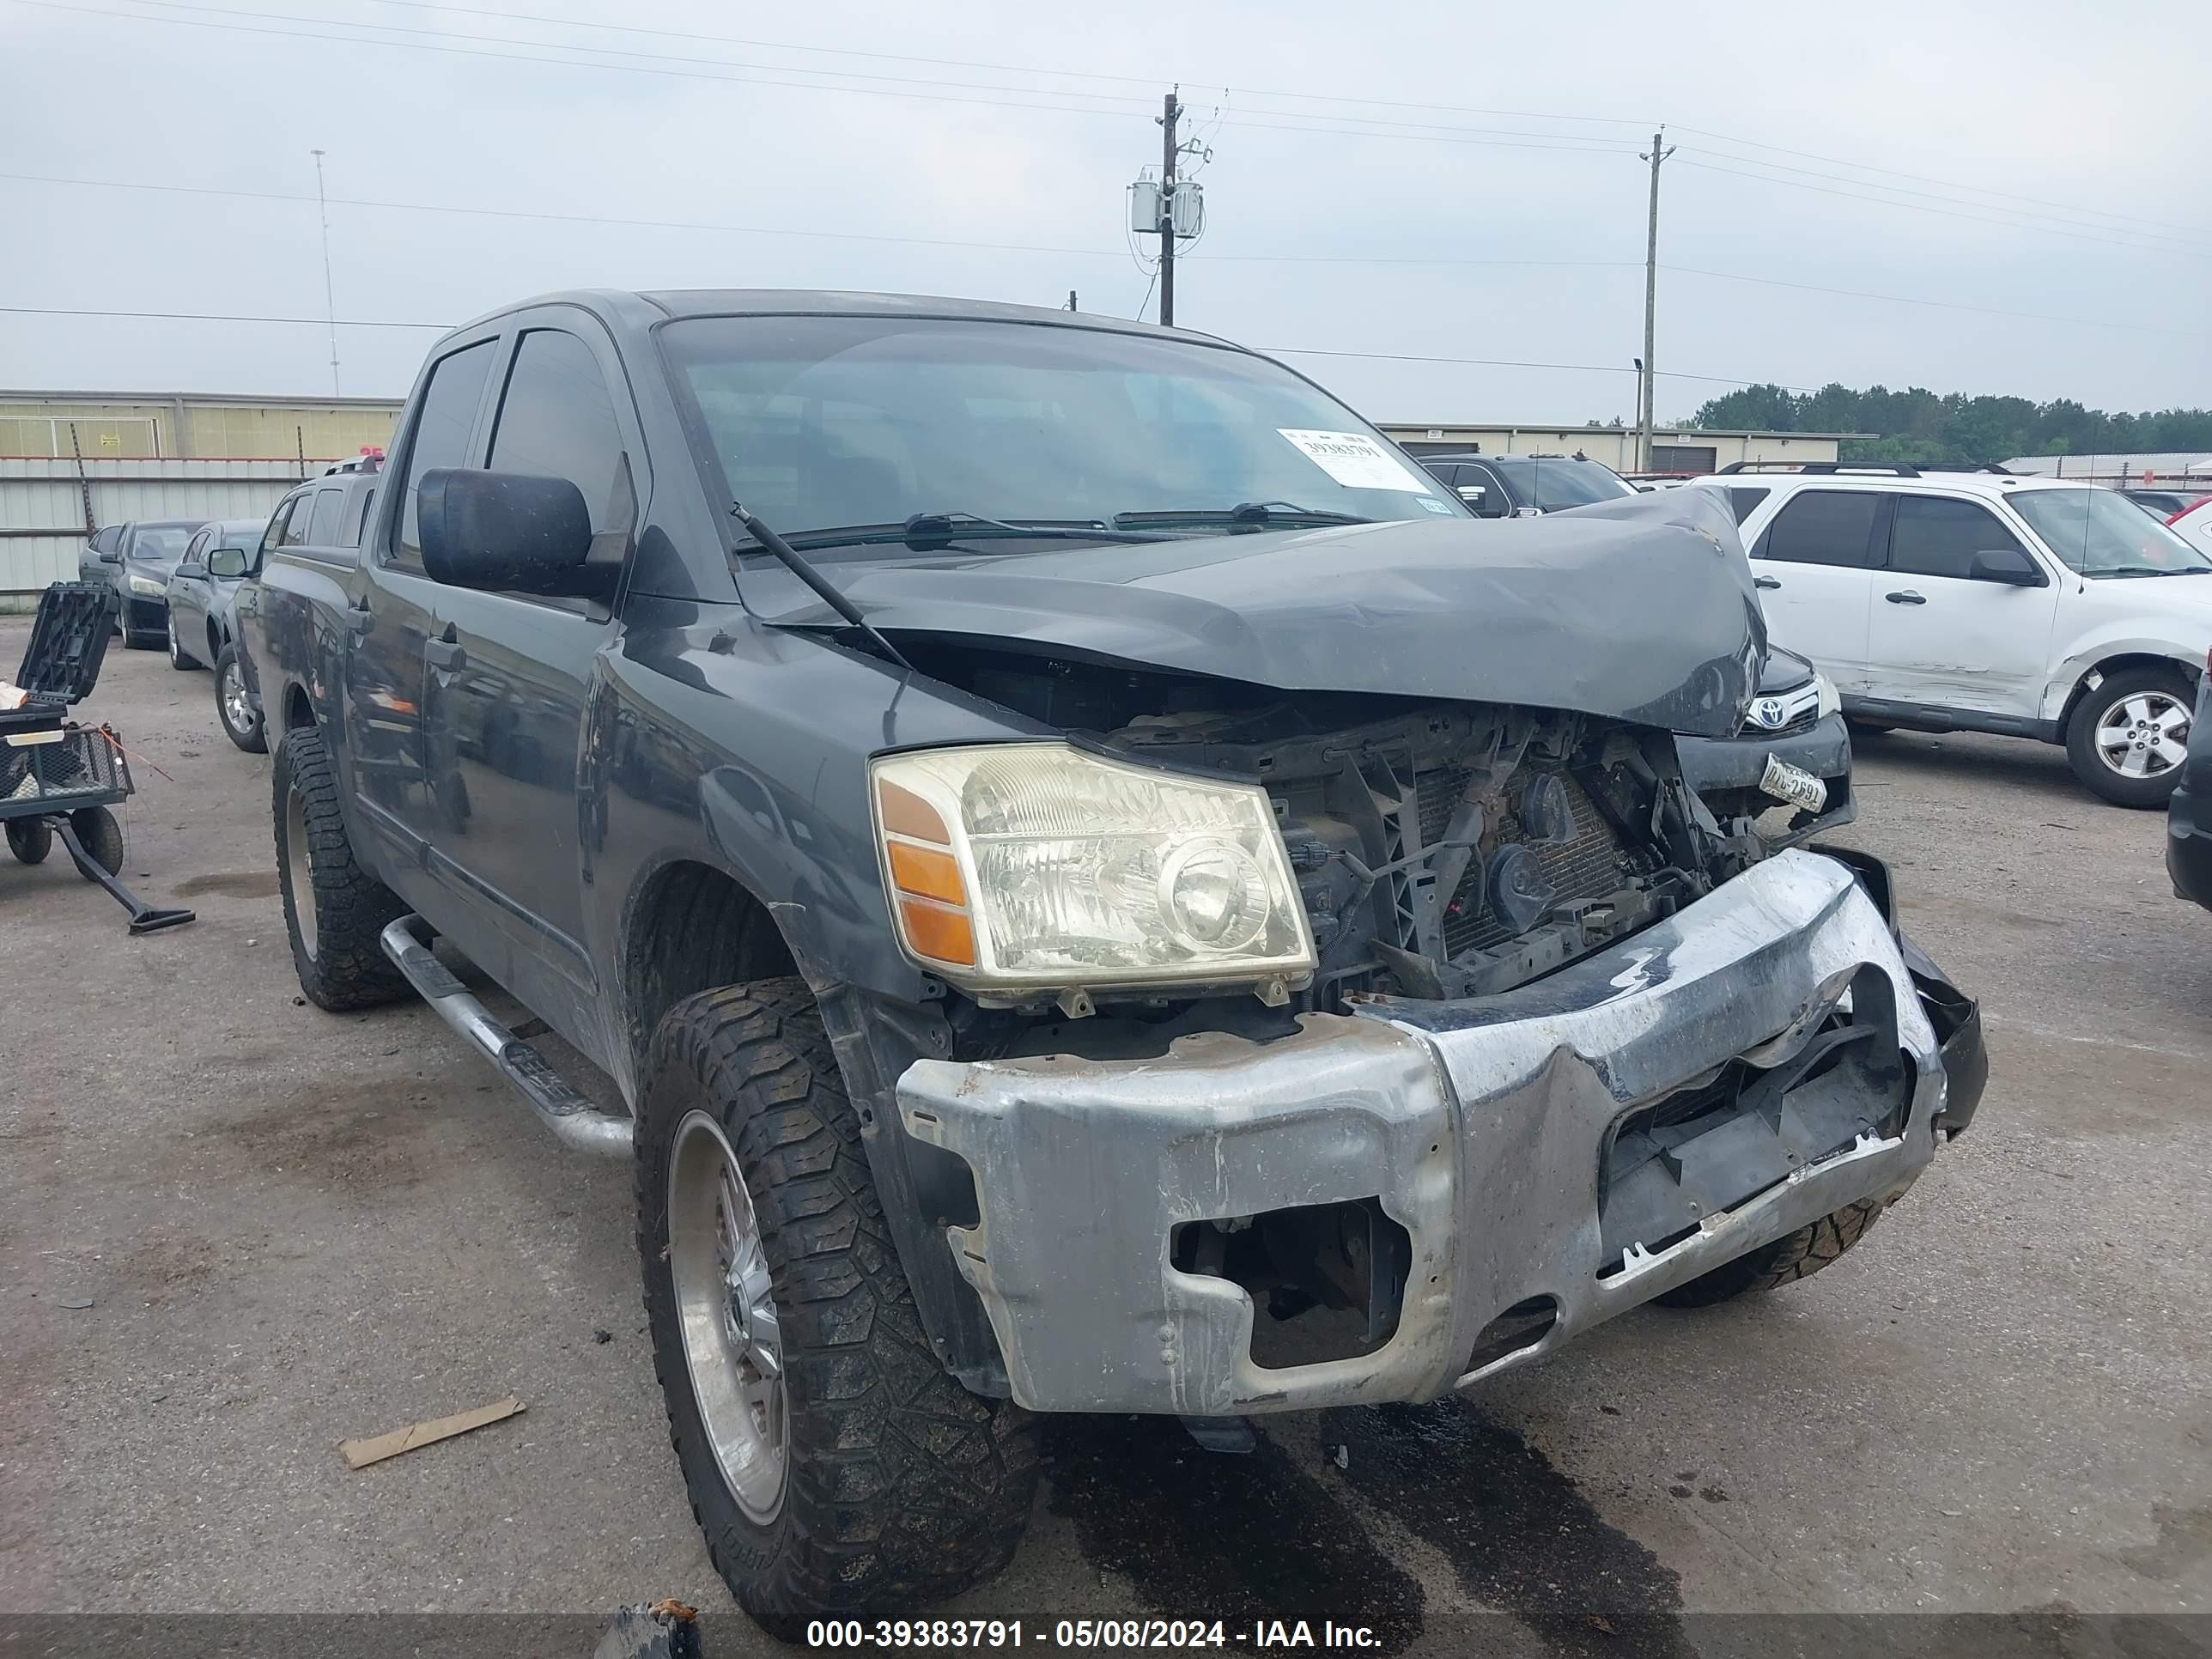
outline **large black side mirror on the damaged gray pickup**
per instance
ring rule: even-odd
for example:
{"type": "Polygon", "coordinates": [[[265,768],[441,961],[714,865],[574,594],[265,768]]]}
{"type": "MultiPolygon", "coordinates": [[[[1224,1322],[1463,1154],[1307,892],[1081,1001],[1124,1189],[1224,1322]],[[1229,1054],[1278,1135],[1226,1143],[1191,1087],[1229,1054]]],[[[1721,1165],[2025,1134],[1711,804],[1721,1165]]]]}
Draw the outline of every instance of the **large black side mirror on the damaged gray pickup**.
{"type": "Polygon", "coordinates": [[[416,495],[422,568],[453,588],[591,597],[591,509],[566,478],[434,467],[416,495]]]}

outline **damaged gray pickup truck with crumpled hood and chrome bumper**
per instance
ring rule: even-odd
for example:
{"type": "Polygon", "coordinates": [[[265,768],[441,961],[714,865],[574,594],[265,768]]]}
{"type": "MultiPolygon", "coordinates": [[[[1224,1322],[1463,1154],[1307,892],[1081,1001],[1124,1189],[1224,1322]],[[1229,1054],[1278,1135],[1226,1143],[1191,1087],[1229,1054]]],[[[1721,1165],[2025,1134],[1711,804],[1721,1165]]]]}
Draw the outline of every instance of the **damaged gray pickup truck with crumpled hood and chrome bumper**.
{"type": "Polygon", "coordinates": [[[252,624],[301,987],[633,1159],[776,1635],[998,1571],[1033,1413],[1223,1444],[1774,1287],[1980,1099],[1882,867],[1681,781],[1765,653],[1705,491],[1478,522],[1221,341],[772,292],[484,316],[385,480],[252,624]]]}

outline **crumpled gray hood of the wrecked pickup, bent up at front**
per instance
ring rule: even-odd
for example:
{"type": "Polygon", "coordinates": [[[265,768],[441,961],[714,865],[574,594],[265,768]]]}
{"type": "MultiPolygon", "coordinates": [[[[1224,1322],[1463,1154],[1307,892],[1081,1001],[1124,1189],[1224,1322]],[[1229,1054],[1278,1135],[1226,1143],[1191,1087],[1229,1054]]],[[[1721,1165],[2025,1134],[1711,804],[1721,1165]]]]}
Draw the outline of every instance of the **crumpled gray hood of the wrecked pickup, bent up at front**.
{"type": "MultiPolygon", "coordinates": [[[[894,641],[929,633],[1279,690],[1571,708],[1701,737],[1736,732],[1765,655],[1734,520],[1703,489],[1522,520],[823,566],[894,641]]],[[[845,626],[779,566],[748,562],[743,588],[765,622],[845,626]]]]}

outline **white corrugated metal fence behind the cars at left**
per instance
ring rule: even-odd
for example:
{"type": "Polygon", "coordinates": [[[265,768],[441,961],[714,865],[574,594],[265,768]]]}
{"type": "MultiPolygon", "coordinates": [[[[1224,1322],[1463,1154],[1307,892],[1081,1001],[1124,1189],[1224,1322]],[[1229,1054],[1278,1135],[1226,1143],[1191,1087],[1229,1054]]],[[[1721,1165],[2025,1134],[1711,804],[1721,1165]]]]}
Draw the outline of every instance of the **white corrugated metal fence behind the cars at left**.
{"type": "Polygon", "coordinates": [[[259,518],[327,465],[86,456],[80,469],[73,458],[0,458],[0,608],[24,608],[49,582],[75,580],[93,529],[139,518],[259,518]]]}

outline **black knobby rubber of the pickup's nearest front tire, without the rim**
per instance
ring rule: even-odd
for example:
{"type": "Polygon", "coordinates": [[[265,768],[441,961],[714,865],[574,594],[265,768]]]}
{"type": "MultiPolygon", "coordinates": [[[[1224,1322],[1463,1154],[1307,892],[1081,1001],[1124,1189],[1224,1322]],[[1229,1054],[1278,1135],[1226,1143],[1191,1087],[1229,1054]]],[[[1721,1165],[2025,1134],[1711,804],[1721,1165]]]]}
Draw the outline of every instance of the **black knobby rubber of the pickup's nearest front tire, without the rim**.
{"type": "Polygon", "coordinates": [[[659,1022],[637,1121],[637,1254],[692,1515],[763,1630],[799,1641],[807,1619],[907,1615],[1006,1566],[1037,1480],[1035,1418],[969,1394],[931,1352],[805,980],[706,991],[659,1022]],[[765,1524],[723,1482],[677,1325],[668,1161],[692,1110],[737,1152],[783,1332],[790,1455],[765,1524]]]}

